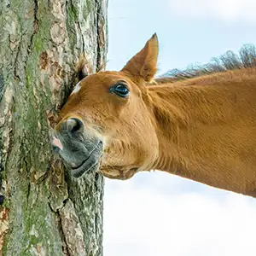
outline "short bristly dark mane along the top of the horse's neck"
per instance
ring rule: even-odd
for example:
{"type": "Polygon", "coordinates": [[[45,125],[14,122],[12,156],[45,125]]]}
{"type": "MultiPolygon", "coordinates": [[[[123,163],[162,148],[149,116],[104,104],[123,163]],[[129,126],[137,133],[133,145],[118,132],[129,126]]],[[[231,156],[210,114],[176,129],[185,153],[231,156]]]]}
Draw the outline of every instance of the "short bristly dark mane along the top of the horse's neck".
{"type": "Polygon", "coordinates": [[[253,44],[245,44],[238,54],[228,50],[218,58],[205,65],[192,65],[185,70],[172,69],[160,77],[154,79],[157,84],[176,82],[183,79],[193,79],[212,73],[226,72],[228,70],[256,67],[256,47],[253,44]]]}

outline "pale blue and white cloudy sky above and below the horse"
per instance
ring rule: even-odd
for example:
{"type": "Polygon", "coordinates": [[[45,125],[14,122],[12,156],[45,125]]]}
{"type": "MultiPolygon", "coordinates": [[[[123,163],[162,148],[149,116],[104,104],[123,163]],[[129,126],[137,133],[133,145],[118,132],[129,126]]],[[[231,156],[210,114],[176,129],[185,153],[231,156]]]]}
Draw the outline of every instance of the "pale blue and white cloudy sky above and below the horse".
{"type": "MultiPolygon", "coordinates": [[[[108,69],[157,32],[159,73],[256,44],[254,0],[109,0],[108,69]]],[[[106,178],[104,256],[241,256],[256,252],[256,200],[163,172],[106,178]]]]}

